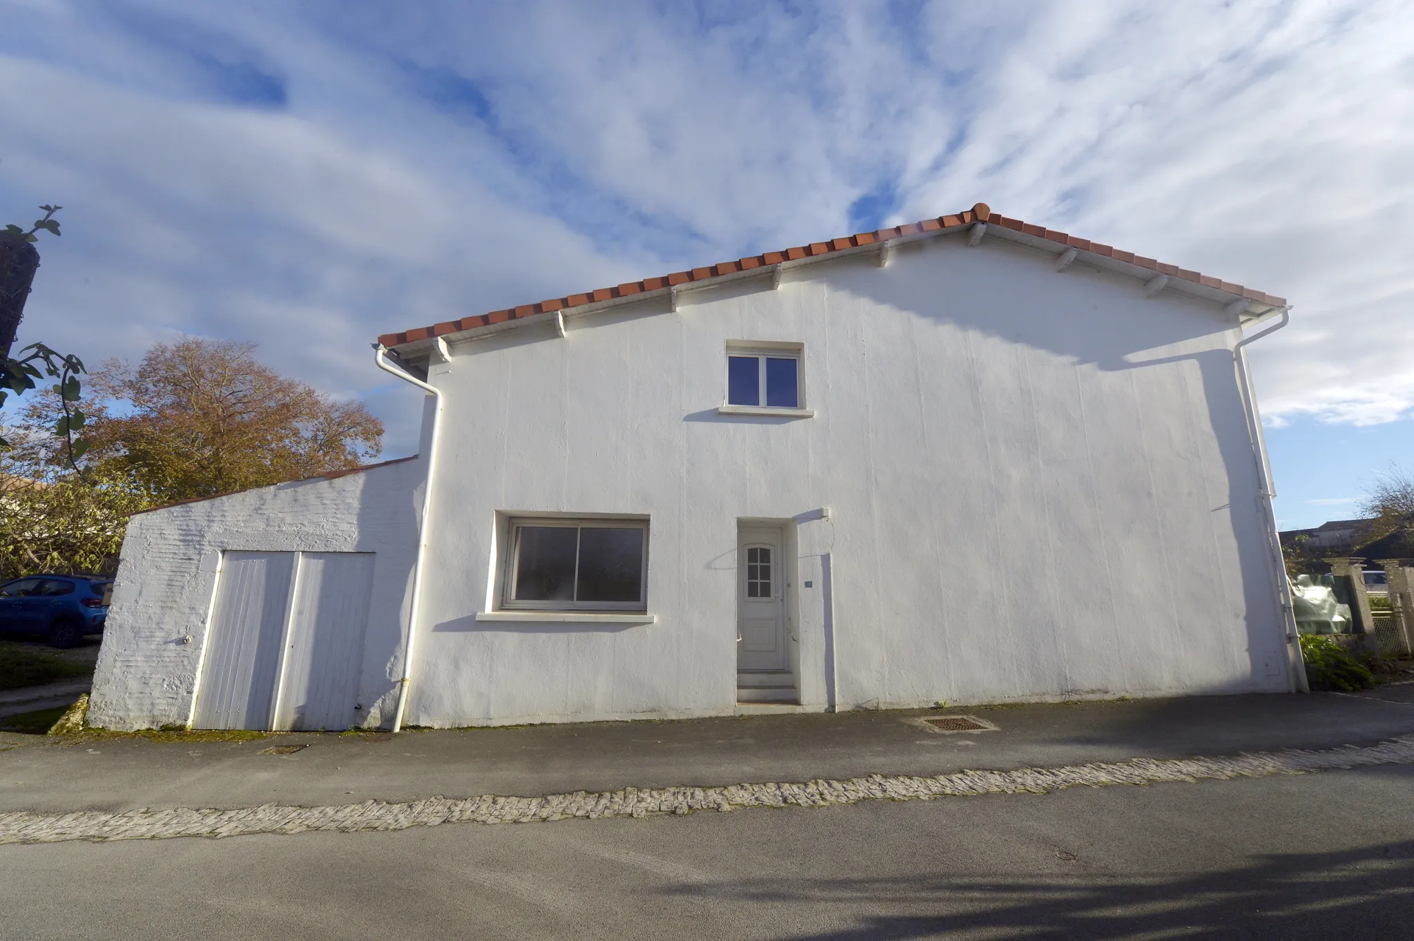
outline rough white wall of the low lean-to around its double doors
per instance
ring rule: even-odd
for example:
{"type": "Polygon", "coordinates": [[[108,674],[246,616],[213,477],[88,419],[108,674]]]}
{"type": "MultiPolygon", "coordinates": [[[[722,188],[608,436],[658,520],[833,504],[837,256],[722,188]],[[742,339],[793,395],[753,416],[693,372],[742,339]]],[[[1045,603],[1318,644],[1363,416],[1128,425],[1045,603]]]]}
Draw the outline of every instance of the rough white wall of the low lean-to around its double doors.
{"type": "Polygon", "coordinates": [[[89,723],[185,725],[219,554],[264,550],[376,554],[358,702],[362,725],[386,725],[402,675],[423,473],[420,461],[406,461],[134,516],[93,674],[89,723]]]}

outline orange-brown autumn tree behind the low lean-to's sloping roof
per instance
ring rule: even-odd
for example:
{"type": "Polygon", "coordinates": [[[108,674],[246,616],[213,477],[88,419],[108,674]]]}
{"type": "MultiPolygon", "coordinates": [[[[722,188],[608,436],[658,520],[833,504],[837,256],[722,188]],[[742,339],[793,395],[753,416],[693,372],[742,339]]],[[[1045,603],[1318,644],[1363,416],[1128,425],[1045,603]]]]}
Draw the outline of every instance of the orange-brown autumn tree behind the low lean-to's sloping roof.
{"type": "Polygon", "coordinates": [[[355,468],[383,422],[260,365],[255,343],[182,336],[132,367],[107,362],[90,386],[93,463],[157,502],[215,496],[355,468]]]}

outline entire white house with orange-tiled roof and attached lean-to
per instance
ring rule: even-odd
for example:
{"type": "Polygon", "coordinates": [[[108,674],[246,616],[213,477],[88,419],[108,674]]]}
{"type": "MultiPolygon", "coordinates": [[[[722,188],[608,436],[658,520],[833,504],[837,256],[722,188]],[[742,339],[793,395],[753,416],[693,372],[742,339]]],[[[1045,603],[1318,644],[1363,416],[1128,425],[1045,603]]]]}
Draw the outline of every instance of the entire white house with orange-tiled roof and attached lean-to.
{"type": "Polygon", "coordinates": [[[1268,319],[978,203],[385,335],[420,456],[134,517],[89,719],[1297,690],[1268,319]]]}

